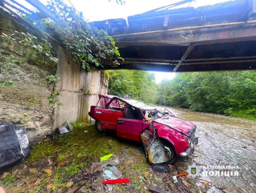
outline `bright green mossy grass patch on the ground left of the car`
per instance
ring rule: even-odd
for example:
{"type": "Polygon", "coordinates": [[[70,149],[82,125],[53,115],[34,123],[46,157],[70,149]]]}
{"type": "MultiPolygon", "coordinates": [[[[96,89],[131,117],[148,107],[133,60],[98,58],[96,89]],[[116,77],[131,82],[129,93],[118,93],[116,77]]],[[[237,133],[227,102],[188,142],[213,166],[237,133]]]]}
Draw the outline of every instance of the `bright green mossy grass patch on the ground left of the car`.
{"type": "MultiPolygon", "coordinates": [[[[53,173],[53,191],[55,192],[60,187],[63,187],[64,179],[72,179],[72,176],[78,174],[88,167],[88,161],[99,161],[99,158],[109,153],[119,153],[120,146],[123,142],[113,139],[112,136],[107,136],[98,133],[95,126],[89,126],[89,123],[71,123],[74,127],[73,132],[55,140],[42,142],[34,146],[31,150],[31,156],[26,160],[26,163],[37,161],[39,158],[50,158],[57,161],[59,167],[53,173]],[[84,133],[88,130],[88,133],[84,133]]],[[[143,158],[145,159],[145,158],[143,158]]],[[[145,163],[135,164],[133,170],[145,170],[145,163]]],[[[43,186],[43,180],[38,185],[38,191],[41,191],[40,186],[43,186]]]]}

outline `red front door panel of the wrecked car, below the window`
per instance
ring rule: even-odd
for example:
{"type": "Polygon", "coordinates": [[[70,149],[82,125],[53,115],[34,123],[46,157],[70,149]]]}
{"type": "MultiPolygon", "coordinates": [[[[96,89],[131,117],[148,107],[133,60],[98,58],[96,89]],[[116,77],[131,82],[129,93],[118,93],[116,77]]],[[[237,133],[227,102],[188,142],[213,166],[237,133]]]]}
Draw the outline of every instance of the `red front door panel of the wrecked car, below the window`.
{"type": "Polygon", "coordinates": [[[117,121],[117,136],[141,142],[139,133],[144,130],[145,120],[119,118],[117,121]]]}

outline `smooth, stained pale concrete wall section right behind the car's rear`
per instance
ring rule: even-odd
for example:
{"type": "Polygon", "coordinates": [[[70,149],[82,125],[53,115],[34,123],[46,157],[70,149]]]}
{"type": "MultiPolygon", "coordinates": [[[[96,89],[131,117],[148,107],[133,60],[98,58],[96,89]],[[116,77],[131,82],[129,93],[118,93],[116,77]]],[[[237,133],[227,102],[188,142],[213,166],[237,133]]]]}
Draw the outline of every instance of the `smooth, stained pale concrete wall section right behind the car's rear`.
{"type": "Polygon", "coordinates": [[[104,72],[94,67],[91,67],[92,72],[81,71],[61,47],[58,49],[58,59],[57,74],[61,80],[57,89],[61,90],[60,102],[63,106],[56,107],[54,127],[63,125],[65,121],[88,120],[90,106],[96,105],[98,93],[107,94],[108,85],[104,72]]]}

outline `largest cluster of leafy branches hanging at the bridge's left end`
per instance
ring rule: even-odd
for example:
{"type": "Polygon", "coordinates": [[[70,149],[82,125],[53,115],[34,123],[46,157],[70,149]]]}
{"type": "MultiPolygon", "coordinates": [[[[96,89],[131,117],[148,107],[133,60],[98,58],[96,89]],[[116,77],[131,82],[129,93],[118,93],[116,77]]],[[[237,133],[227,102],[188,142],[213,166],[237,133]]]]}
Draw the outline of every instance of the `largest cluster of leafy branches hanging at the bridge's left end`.
{"type": "MultiPolygon", "coordinates": [[[[123,1],[118,2],[122,4],[123,1]]],[[[122,58],[114,39],[104,30],[91,28],[72,4],[68,6],[63,0],[52,0],[48,1],[47,8],[58,20],[55,32],[61,36],[74,62],[82,69],[91,71],[89,64],[102,66],[102,60],[109,59],[119,65],[117,59],[122,58]]]]}

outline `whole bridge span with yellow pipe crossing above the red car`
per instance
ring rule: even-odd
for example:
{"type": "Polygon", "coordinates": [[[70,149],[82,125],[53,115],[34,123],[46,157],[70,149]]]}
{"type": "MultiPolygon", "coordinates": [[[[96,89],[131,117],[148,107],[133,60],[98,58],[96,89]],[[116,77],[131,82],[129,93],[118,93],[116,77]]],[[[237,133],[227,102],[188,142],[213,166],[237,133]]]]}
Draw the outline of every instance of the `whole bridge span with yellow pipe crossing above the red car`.
{"type": "MultiPolygon", "coordinates": [[[[188,2],[188,1],[183,1],[188,2]]],[[[256,69],[256,1],[236,0],[198,8],[161,7],[124,19],[92,22],[106,30],[119,47],[115,66],[195,72],[256,69]]]]}

